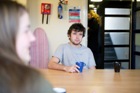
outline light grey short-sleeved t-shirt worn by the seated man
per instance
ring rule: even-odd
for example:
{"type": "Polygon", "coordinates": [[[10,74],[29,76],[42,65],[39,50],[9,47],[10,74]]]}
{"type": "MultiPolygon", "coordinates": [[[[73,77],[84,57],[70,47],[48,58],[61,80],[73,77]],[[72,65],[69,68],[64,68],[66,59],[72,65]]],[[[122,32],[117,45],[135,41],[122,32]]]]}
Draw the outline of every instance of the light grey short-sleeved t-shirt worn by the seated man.
{"type": "Polygon", "coordinates": [[[65,66],[73,66],[76,62],[84,62],[85,69],[96,66],[91,50],[83,45],[77,48],[69,43],[62,44],[57,48],[54,56],[59,58],[59,61],[65,66]]]}

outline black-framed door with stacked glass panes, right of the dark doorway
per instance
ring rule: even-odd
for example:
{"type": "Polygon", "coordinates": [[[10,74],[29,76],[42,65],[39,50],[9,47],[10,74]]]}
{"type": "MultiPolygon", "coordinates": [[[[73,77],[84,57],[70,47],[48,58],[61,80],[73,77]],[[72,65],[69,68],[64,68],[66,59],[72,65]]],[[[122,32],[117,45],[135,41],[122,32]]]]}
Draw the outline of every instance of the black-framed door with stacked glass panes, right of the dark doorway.
{"type": "Polygon", "coordinates": [[[98,8],[102,18],[100,30],[100,68],[113,68],[120,62],[130,68],[131,1],[103,1],[98,8]]]}

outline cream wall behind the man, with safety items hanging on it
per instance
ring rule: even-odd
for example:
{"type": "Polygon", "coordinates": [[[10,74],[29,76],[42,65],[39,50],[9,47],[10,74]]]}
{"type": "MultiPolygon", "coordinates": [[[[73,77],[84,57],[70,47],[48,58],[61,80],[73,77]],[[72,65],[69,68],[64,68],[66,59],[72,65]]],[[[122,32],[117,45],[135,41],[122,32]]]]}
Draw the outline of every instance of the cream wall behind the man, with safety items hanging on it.
{"type": "MultiPolygon", "coordinates": [[[[68,10],[65,11],[65,18],[57,18],[57,6],[59,0],[27,0],[27,8],[31,17],[31,30],[42,27],[48,36],[49,41],[49,57],[53,55],[56,48],[63,43],[67,43],[67,30],[71,23],[68,20],[68,10]],[[41,3],[51,3],[52,10],[49,16],[48,24],[42,24],[42,15],[40,13],[41,3]]],[[[68,8],[71,6],[79,6],[81,8],[81,23],[87,28],[87,0],[68,0],[68,8]]],[[[87,36],[83,38],[82,44],[87,44],[87,36]]]]}

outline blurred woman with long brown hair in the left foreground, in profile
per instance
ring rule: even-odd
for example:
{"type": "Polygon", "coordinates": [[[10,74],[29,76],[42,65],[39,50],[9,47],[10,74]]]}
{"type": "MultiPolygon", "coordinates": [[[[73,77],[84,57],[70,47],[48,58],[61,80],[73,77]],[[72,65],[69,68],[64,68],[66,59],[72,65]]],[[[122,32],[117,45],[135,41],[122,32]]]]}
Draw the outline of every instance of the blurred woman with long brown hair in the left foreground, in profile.
{"type": "Polygon", "coordinates": [[[41,73],[26,64],[30,61],[28,12],[14,1],[0,1],[0,93],[54,93],[41,73]]]}

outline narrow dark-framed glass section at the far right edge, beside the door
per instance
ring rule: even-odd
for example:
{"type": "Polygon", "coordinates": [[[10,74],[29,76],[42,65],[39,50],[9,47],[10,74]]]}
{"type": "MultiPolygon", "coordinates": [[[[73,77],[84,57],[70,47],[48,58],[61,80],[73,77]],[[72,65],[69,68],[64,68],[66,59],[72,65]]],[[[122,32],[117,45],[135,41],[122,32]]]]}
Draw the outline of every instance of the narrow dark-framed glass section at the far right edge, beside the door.
{"type": "Polygon", "coordinates": [[[140,69],[140,2],[134,0],[132,8],[132,69],[140,69]]]}

